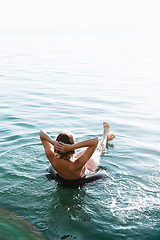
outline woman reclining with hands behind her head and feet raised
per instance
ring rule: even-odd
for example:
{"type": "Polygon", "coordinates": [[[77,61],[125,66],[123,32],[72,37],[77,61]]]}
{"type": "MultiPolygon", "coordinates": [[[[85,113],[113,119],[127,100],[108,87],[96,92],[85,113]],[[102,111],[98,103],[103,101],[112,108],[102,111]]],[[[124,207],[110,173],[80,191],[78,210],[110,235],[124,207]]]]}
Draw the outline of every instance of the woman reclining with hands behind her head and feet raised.
{"type": "Polygon", "coordinates": [[[115,138],[114,134],[109,134],[110,125],[107,122],[103,123],[103,128],[103,139],[99,145],[98,137],[75,143],[74,137],[69,133],[62,132],[53,140],[47,133],[40,131],[46,156],[60,177],[80,179],[98,167],[107,141],[115,138]],[[75,154],[75,150],[79,148],[85,149],[75,154]]]}

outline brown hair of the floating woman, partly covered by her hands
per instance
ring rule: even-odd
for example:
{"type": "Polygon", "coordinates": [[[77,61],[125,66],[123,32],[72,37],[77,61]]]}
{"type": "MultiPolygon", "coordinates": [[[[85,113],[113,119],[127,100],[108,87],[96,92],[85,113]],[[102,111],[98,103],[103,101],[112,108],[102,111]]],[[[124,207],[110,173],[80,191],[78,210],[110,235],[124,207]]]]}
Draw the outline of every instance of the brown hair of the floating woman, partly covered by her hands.
{"type": "MultiPolygon", "coordinates": [[[[63,143],[67,143],[67,144],[75,144],[75,139],[72,136],[71,133],[66,133],[66,132],[61,132],[57,138],[56,141],[58,142],[63,142],[63,143]]],[[[69,160],[72,158],[73,154],[75,153],[75,150],[72,150],[70,152],[66,152],[66,153],[62,153],[56,149],[54,149],[54,153],[56,155],[57,158],[62,158],[65,160],[69,160]]]]}

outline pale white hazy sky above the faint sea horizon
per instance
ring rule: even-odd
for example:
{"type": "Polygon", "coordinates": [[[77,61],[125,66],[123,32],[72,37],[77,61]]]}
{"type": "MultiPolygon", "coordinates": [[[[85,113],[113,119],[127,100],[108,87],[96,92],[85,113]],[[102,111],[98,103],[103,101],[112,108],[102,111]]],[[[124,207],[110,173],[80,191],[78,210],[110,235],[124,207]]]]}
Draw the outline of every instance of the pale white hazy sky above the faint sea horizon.
{"type": "Polygon", "coordinates": [[[0,29],[157,31],[159,0],[0,0],[0,29]]]}

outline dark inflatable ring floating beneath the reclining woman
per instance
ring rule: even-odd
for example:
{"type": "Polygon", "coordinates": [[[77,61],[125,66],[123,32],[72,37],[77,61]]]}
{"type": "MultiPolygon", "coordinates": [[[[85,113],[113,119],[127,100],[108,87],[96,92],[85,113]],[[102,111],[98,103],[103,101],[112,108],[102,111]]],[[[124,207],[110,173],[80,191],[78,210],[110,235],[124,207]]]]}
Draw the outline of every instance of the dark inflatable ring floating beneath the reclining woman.
{"type": "Polygon", "coordinates": [[[97,180],[104,180],[108,177],[106,169],[102,166],[99,166],[94,172],[87,174],[85,177],[76,180],[60,177],[52,165],[50,165],[46,171],[46,177],[49,181],[55,180],[58,186],[77,189],[84,187],[87,183],[93,184],[97,180]]]}

